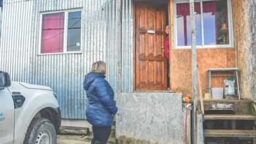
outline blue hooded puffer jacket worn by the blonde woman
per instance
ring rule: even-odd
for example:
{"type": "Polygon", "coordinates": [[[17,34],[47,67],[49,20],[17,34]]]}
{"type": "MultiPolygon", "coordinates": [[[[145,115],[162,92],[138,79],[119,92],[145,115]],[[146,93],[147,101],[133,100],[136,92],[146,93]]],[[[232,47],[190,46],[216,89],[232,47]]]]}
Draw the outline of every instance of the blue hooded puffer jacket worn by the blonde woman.
{"type": "Polygon", "coordinates": [[[112,126],[117,113],[114,91],[105,76],[100,73],[88,73],[83,81],[89,105],[86,110],[88,122],[93,126],[112,126]]]}

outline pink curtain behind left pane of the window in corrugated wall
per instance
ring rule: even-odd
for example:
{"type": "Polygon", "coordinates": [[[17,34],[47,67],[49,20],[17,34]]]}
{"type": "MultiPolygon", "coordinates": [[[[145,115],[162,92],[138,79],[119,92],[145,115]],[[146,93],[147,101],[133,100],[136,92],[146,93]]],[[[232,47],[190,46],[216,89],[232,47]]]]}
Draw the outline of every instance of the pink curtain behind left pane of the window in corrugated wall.
{"type": "Polygon", "coordinates": [[[44,14],[41,53],[63,52],[64,12],[44,14]]]}

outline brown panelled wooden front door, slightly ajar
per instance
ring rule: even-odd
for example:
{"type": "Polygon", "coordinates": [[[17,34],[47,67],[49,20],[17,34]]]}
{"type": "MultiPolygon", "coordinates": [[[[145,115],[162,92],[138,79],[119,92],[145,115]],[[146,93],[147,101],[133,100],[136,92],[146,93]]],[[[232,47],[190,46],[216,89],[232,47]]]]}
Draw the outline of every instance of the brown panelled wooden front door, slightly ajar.
{"type": "Polygon", "coordinates": [[[166,12],[162,5],[136,3],[136,90],[166,90],[167,65],[163,55],[166,12]]]}

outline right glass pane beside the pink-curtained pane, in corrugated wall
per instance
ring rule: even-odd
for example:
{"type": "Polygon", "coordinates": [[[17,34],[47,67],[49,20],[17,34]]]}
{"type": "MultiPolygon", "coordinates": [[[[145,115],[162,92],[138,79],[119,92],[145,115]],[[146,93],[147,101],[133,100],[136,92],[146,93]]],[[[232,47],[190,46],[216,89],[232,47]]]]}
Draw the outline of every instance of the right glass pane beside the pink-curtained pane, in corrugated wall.
{"type": "Polygon", "coordinates": [[[68,13],[68,51],[81,49],[81,11],[68,13]]]}

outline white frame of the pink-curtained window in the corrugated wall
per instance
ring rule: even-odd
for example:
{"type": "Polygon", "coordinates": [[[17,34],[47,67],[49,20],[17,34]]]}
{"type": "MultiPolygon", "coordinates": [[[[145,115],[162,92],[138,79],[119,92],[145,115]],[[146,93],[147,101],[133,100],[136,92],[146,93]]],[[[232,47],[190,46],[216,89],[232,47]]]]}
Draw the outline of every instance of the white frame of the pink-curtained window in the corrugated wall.
{"type": "Polygon", "coordinates": [[[82,9],[72,9],[72,10],[56,10],[51,12],[40,12],[40,20],[39,20],[39,50],[37,55],[51,55],[51,54],[81,54],[83,43],[82,43],[82,37],[83,37],[83,11],[82,9]],[[64,12],[64,40],[63,40],[63,52],[53,52],[53,53],[42,53],[41,52],[41,39],[42,39],[42,23],[43,23],[43,14],[54,14],[64,12]],[[68,51],[68,13],[69,12],[81,12],[81,36],[80,36],[80,50],[78,51],[68,51]]]}

